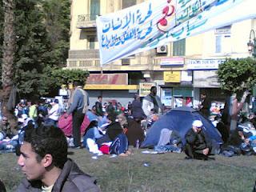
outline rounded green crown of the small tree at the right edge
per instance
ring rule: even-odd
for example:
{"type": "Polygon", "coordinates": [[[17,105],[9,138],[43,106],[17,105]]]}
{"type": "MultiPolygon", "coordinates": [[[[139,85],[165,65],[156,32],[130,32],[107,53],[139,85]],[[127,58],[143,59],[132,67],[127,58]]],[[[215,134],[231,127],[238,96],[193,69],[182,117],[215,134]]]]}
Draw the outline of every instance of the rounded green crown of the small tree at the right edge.
{"type": "Polygon", "coordinates": [[[222,90],[230,93],[251,90],[256,84],[256,60],[228,58],[218,67],[217,73],[222,90]]]}

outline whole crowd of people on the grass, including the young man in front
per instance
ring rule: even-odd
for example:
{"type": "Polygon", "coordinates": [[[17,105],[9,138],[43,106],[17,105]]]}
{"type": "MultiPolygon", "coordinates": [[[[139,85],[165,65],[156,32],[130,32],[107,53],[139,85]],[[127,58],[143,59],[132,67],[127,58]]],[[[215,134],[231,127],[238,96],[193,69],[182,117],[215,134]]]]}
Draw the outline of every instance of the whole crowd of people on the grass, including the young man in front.
{"type": "MultiPolygon", "coordinates": [[[[222,116],[217,115],[213,125],[222,134],[224,143],[228,143],[229,147],[234,144],[233,130],[237,130],[239,149],[244,154],[256,154],[254,114],[250,114],[249,117],[243,116],[238,120],[239,110],[247,95],[246,92],[241,102],[237,102],[237,98],[236,102],[231,102],[232,106],[228,110],[229,119],[225,119],[225,113],[222,116]],[[226,121],[230,126],[227,126],[226,121]],[[238,123],[238,126],[234,123],[238,123]]],[[[210,102],[207,101],[206,94],[202,94],[201,98],[198,110],[208,118],[210,102]]],[[[234,96],[233,100],[235,100],[234,96]]],[[[74,186],[78,189],[98,191],[94,180],[67,158],[67,147],[76,150],[83,148],[97,155],[129,156],[132,154],[129,147],[139,147],[150,127],[166,112],[155,86],[151,87],[150,94],[142,101],[138,94],[134,94],[134,100],[127,106],[122,106],[119,102],[102,103],[102,101],[102,96],[98,96],[98,101],[89,109],[89,95],[82,89],[82,84],[74,82],[74,90],[70,97],[61,96],[40,101],[22,99],[14,110],[18,119],[17,130],[10,129],[8,119],[2,117],[0,150],[20,152],[18,165],[26,172],[26,179],[18,187],[18,191],[29,191],[37,187],[43,191],[52,189],[71,191],[70,187],[74,186]],[[31,157],[32,162],[27,161],[26,157],[31,157]],[[74,173],[81,179],[72,176],[74,173]],[[34,186],[38,180],[39,185],[34,186]],[[82,180],[84,181],[77,183],[82,180]]],[[[186,145],[182,145],[182,138],[176,131],[163,129],[154,150],[176,153],[184,151],[187,159],[214,159],[210,158],[213,154],[213,146],[203,126],[200,119],[194,119],[191,129],[185,136],[186,145]]],[[[236,143],[233,146],[238,145],[236,143]]],[[[232,149],[231,152],[234,152],[232,149]]],[[[225,148],[223,151],[227,156],[231,153],[230,148],[229,150],[225,148]]]]}

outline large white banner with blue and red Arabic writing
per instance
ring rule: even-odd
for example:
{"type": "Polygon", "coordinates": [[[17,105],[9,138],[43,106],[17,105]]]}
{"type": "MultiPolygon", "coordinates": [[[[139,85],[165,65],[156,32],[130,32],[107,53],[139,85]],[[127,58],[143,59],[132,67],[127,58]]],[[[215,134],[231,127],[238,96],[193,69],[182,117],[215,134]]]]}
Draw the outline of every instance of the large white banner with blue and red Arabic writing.
{"type": "Polygon", "coordinates": [[[256,0],[150,0],[96,19],[101,63],[256,18],[256,0]]]}

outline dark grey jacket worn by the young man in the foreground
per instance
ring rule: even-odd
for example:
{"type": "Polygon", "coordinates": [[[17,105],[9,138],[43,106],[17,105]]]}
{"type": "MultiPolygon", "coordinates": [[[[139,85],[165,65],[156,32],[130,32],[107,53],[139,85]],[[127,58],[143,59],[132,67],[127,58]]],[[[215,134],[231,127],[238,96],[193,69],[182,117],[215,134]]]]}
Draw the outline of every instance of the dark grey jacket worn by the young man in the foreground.
{"type": "MultiPolygon", "coordinates": [[[[39,192],[42,191],[42,182],[29,182],[26,178],[18,186],[17,192],[39,192]]],[[[99,192],[95,180],[90,175],[79,169],[78,165],[71,159],[65,163],[62,173],[54,184],[52,192],[99,192]]]]}

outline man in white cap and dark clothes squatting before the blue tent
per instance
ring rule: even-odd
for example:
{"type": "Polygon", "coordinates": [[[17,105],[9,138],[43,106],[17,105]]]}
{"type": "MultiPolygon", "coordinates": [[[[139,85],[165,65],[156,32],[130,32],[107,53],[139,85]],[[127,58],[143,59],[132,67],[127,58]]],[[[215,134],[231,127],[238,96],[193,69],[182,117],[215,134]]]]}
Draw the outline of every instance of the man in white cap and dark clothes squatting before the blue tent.
{"type": "Polygon", "coordinates": [[[186,133],[186,158],[207,160],[209,159],[211,142],[202,130],[203,124],[200,120],[194,120],[192,128],[186,133]]]}

